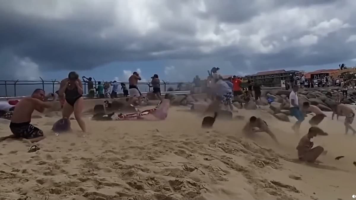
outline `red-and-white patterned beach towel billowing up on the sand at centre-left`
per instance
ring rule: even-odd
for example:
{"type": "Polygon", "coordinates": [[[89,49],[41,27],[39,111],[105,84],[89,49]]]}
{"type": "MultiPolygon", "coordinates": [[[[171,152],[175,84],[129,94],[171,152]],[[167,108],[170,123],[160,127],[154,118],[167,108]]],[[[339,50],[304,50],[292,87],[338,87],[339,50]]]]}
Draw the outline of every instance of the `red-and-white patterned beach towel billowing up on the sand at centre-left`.
{"type": "Polygon", "coordinates": [[[158,121],[165,120],[168,115],[168,109],[172,99],[172,95],[166,94],[162,101],[159,101],[156,108],[150,110],[139,111],[131,114],[119,114],[116,120],[148,120],[158,121]]]}

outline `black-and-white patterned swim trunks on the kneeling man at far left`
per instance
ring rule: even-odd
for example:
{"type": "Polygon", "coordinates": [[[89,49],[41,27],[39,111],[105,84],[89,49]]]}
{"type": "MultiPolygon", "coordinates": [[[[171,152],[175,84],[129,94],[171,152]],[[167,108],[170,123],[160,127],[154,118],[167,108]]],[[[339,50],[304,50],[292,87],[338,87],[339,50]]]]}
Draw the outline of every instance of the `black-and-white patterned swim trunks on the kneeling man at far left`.
{"type": "Polygon", "coordinates": [[[10,130],[17,138],[37,138],[43,136],[43,131],[33,126],[30,122],[10,123],[10,130]]]}

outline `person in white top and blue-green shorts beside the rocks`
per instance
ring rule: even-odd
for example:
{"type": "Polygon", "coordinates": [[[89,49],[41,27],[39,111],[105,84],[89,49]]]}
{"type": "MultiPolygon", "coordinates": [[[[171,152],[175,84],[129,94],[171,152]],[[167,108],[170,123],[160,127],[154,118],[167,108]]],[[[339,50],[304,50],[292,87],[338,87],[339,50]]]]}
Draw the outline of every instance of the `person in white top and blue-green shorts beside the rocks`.
{"type": "Polygon", "coordinates": [[[289,100],[290,100],[290,115],[294,116],[297,118],[297,122],[292,126],[292,129],[298,133],[300,124],[304,121],[304,114],[302,111],[299,109],[299,104],[298,104],[298,85],[293,85],[293,90],[289,94],[289,100]]]}

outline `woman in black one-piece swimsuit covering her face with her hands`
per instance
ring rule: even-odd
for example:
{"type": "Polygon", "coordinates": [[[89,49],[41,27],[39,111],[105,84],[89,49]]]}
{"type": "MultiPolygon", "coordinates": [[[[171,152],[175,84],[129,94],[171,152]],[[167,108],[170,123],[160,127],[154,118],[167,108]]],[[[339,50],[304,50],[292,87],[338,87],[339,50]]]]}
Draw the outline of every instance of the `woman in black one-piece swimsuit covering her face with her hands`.
{"type": "Polygon", "coordinates": [[[70,72],[68,78],[62,80],[59,94],[66,95],[66,102],[64,102],[62,109],[63,118],[69,119],[74,111],[75,119],[82,131],[85,132],[85,122],[82,119],[84,106],[83,85],[76,72],[70,72]]]}

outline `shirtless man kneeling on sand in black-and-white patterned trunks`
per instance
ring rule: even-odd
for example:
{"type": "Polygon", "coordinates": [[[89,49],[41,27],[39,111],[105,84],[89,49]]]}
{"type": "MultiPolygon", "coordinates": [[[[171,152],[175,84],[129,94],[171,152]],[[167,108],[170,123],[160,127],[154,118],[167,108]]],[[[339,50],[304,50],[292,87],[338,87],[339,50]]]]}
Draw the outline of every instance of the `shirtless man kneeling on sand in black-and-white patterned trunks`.
{"type": "Polygon", "coordinates": [[[33,126],[31,122],[31,116],[34,110],[38,112],[45,111],[45,108],[50,108],[51,105],[45,100],[45,91],[42,89],[36,89],[33,91],[31,97],[22,99],[15,106],[15,110],[11,117],[10,130],[13,135],[0,138],[0,141],[6,140],[7,138],[24,138],[30,142],[38,142],[43,140],[42,130],[33,126]]]}

